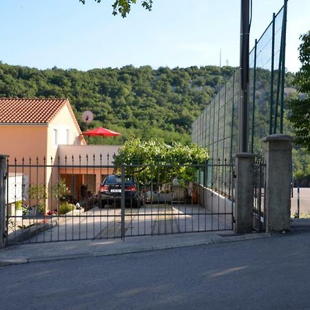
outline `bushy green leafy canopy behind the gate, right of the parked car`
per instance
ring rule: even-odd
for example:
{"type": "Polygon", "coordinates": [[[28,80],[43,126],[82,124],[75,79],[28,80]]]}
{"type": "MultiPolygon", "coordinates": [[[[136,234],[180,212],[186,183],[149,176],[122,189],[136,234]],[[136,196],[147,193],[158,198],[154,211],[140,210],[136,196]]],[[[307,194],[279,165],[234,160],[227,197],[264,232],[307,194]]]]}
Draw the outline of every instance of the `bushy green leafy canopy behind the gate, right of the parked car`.
{"type": "Polygon", "coordinates": [[[199,145],[167,145],[158,140],[141,141],[132,138],[119,149],[116,165],[127,165],[127,175],[143,183],[180,183],[196,180],[198,165],[209,158],[208,149],[199,145]]]}

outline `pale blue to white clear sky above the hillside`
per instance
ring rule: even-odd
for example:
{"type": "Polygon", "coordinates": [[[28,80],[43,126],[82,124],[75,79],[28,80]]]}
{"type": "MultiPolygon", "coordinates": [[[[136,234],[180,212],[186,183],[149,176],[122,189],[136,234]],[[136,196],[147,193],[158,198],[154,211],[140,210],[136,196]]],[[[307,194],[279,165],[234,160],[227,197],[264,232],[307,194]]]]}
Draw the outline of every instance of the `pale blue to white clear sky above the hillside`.
{"type": "MultiPolygon", "coordinates": [[[[139,0],[138,0],[139,2],[139,0]]],[[[36,68],[123,65],[238,66],[240,0],[154,0],[129,17],[112,16],[112,0],[1,0],[0,60],[36,68]]],[[[253,0],[251,46],[282,0],[253,0]]],[[[300,34],[310,30],[310,1],[289,0],[286,67],[296,72],[300,34]]]]}

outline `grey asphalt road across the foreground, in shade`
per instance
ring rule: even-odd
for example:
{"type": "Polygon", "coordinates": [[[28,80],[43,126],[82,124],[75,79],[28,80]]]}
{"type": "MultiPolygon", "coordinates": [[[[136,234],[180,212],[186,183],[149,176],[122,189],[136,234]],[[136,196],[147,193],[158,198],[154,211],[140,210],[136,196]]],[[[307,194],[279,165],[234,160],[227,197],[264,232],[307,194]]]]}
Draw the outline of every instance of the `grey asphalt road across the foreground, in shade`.
{"type": "Polygon", "coordinates": [[[310,309],[310,232],[0,268],[0,309],[310,309]]]}

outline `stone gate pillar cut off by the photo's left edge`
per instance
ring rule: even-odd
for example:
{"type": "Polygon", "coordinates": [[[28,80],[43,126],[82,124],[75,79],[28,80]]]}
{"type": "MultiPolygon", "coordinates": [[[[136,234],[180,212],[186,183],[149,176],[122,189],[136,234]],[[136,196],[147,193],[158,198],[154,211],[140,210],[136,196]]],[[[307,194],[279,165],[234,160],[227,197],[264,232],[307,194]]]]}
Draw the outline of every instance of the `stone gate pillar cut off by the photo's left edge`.
{"type": "Polygon", "coordinates": [[[6,161],[8,155],[0,155],[0,249],[5,245],[6,233],[6,161]]]}

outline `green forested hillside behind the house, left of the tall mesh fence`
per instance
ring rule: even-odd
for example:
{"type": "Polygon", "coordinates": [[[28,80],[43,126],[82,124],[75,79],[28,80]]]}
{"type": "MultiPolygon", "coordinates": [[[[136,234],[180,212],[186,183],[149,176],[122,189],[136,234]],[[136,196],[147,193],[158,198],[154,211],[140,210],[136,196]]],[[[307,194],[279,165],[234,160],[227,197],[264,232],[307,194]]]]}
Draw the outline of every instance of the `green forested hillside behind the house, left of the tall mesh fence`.
{"type": "Polygon", "coordinates": [[[0,96],[68,98],[82,130],[81,114],[90,110],[94,121],[89,127],[121,132],[119,137],[105,138],[105,143],[123,143],[130,136],[189,143],[192,121],[233,70],[216,66],[153,70],[127,65],[83,72],[1,63],[0,96]]]}

